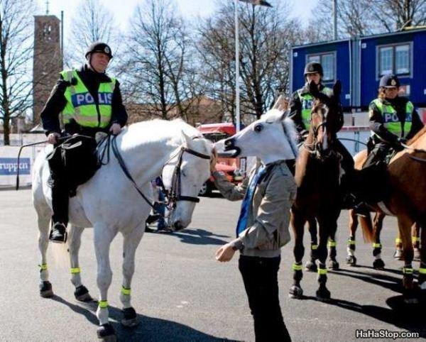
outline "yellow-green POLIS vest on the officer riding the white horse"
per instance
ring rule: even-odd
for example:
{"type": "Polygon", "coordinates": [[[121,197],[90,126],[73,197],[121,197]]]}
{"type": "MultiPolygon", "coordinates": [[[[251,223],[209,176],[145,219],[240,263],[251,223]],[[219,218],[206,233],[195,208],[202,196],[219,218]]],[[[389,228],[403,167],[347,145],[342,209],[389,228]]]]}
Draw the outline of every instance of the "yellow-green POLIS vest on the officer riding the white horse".
{"type": "Polygon", "coordinates": [[[111,101],[116,79],[111,82],[100,83],[98,89],[99,118],[97,105],[89,89],[84,85],[76,70],[65,70],[61,72],[65,81],[71,82],[72,77],[77,79],[77,84],[70,85],[65,90],[67,104],[62,111],[64,123],[69,123],[73,118],[84,127],[105,128],[111,121],[111,101]]]}

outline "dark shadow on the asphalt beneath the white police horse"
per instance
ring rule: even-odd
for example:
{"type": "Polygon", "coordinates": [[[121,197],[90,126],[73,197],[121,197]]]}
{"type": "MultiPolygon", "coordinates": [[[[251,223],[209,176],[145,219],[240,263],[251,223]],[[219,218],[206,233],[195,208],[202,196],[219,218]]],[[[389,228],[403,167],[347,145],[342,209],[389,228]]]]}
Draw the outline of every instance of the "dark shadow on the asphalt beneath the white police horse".
{"type": "MultiPolygon", "coordinates": [[[[72,304],[65,299],[54,295],[52,297],[56,302],[65,304],[67,307],[75,311],[77,314],[82,314],[87,320],[94,324],[93,336],[96,336],[98,319],[96,316],[97,302],[72,304]]],[[[126,328],[119,323],[123,318],[121,309],[116,307],[108,307],[109,320],[114,327],[117,339],[119,341],[214,341],[214,342],[239,342],[226,338],[219,338],[196,329],[190,326],[185,326],[166,319],[158,319],[138,314],[138,326],[134,328],[126,328]]],[[[242,341],[241,341],[242,342],[242,341]]]]}

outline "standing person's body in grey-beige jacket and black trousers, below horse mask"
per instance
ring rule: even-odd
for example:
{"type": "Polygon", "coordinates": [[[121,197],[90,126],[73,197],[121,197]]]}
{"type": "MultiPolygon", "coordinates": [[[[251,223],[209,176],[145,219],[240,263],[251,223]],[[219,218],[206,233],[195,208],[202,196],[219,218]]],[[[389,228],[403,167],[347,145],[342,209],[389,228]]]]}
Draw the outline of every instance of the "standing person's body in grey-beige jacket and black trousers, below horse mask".
{"type": "Polygon", "coordinates": [[[290,241],[290,207],[297,186],[285,160],[264,165],[258,160],[244,182],[235,185],[215,170],[216,151],[210,169],[219,192],[231,201],[243,199],[236,232],[238,237],[216,252],[227,262],[239,258],[239,271],[249,299],[256,342],[291,341],[278,295],[280,250],[290,241]]]}

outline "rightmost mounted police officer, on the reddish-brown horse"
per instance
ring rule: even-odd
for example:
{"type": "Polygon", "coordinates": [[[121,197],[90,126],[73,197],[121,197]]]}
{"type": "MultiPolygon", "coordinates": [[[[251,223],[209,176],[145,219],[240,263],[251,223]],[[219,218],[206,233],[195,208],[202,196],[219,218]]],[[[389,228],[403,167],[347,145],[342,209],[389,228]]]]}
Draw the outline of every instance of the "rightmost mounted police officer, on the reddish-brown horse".
{"type": "Polygon", "coordinates": [[[391,148],[397,152],[403,150],[401,143],[413,138],[423,127],[413,104],[398,96],[399,87],[395,75],[384,75],[380,80],[378,97],[368,108],[371,128],[368,150],[371,152],[363,168],[384,163],[391,148]]]}

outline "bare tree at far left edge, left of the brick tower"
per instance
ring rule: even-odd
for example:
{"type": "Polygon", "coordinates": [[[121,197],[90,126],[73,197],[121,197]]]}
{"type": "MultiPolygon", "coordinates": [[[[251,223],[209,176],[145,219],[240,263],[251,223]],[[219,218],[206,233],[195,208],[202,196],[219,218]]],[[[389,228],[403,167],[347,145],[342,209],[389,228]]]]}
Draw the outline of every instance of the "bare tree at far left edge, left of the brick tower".
{"type": "Polygon", "coordinates": [[[0,119],[9,145],[11,118],[31,108],[33,13],[31,0],[0,0],[0,119]]]}

